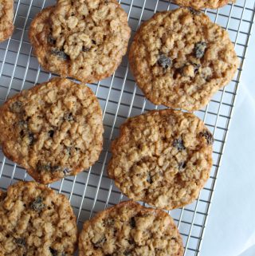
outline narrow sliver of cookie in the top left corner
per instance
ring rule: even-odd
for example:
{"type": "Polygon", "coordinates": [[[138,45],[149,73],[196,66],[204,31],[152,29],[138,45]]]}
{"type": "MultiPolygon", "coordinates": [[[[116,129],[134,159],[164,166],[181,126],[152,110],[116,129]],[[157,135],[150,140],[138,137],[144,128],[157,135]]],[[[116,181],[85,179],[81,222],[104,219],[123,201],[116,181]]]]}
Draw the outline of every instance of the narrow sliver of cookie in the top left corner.
{"type": "Polygon", "coordinates": [[[0,0],[0,41],[14,32],[14,0],[0,0]]]}

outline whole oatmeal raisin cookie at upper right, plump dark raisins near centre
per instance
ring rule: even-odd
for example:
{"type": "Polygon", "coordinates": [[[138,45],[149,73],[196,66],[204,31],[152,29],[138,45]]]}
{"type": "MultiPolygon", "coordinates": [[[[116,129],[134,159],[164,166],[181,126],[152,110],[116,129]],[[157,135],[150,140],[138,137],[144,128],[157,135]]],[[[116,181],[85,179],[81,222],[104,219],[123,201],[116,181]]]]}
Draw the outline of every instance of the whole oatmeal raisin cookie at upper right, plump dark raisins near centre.
{"type": "Polygon", "coordinates": [[[185,8],[155,14],[129,53],[135,80],[154,104],[198,110],[231,81],[238,60],[228,33],[185,8]]]}

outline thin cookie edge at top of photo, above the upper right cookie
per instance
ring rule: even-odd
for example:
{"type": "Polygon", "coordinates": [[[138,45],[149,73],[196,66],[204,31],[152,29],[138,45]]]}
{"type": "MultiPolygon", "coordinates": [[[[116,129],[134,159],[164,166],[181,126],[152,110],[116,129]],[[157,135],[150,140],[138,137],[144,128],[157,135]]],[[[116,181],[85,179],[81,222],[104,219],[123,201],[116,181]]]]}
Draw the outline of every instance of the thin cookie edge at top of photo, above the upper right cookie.
{"type": "Polygon", "coordinates": [[[235,2],[235,0],[174,0],[179,6],[191,7],[194,9],[211,8],[217,9],[222,6],[226,6],[229,2],[235,2]]]}

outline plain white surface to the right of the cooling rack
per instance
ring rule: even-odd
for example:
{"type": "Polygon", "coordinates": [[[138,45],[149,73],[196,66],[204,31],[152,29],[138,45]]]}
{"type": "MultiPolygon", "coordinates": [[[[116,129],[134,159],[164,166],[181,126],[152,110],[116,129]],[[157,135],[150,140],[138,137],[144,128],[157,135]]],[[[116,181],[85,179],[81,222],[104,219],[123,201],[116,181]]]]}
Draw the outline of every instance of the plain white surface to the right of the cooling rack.
{"type": "Polygon", "coordinates": [[[201,256],[255,255],[255,29],[250,37],[201,256]]]}

